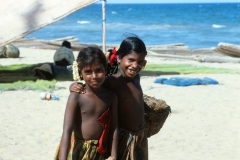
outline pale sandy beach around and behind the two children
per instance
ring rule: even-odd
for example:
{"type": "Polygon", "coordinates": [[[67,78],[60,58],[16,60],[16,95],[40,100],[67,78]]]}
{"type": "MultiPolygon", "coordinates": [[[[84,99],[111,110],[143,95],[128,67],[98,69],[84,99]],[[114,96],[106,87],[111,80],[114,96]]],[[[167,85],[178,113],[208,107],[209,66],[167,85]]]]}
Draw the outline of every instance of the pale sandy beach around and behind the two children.
{"type": "MultiPolygon", "coordinates": [[[[53,62],[54,50],[20,48],[20,58],[0,59],[1,65],[53,62]]],[[[75,57],[77,52],[74,52],[75,57]]],[[[189,64],[239,70],[239,64],[200,63],[146,57],[148,63],[189,64]]],[[[158,77],[176,77],[163,75],[158,77]]],[[[149,138],[149,159],[237,160],[240,157],[239,74],[197,74],[218,85],[176,87],[141,77],[144,94],[163,99],[172,113],[161,131],[149,138]]],[[[53,159],[62,134],[65,105],[72,81],[57,82],[60,100],[41,100],[40,91],[0,91],[0,160],[53,159]]]]}

